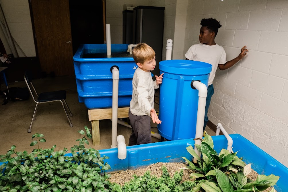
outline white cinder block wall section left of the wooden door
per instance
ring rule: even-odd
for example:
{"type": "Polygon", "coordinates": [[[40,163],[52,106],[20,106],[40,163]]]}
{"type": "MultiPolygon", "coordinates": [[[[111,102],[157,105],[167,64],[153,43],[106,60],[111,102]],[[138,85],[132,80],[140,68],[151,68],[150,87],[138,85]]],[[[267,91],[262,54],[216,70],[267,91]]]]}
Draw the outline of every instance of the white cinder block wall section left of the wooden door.
{"type": "MultiPolygon", "coordinates": [[[[24,57],[23,52],[27,57],[35,57],[36,52],[28,0],[0,0],[0,3],[11,35],[19,45],[15,45],[19,57],[24,57]]],[[[7,54],[10,54],[11,50],[5,41],[2,29],[0,29],[0,35],[7,54]]]]}

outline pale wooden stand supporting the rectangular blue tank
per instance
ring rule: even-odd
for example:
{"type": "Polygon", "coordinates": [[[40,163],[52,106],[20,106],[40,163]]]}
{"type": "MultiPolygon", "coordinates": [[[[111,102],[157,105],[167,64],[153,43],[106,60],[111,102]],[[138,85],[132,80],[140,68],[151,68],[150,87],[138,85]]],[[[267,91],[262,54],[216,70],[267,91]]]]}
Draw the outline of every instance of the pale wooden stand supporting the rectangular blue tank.
{"type": "MultiPolygon", "coordinates": [[[[129,107],[118,108],[118,118],[125,118],[128,116],[129,107]]],[[[112,108],[109,109],[89,109],[88,118],[92,126],[92,143],[93,145],[100,145],[99,120],[111,119],[112,108]]]]}

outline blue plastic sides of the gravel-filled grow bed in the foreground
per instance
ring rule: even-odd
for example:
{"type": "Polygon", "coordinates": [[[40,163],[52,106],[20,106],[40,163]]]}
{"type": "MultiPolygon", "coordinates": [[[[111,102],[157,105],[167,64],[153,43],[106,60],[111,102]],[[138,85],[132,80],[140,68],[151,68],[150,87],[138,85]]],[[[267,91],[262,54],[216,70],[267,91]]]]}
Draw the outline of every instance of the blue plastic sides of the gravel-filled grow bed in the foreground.
{"type": "MultiPolygon", "coordinates": [[[[241,135],[232,134],[230,136],[233,139],[233,150],[238,151],[238,157],[243,157],[247,164],[252,163],[251,167],[258,174],[280,176],[274,187],[278,192],[287,191],[287,167],[241,135]]],[[[212,136],[212,138],[217,153],[222,148],[227,148],[227,140],[224,135],[212,136]]],[[[192,156],[187,152],[186,147],[194,146],[194,143],[193,139],[184,139],[128,146],[127,158],[123,160],[117,158],[117,148],[100,150],[100,154],[110,157],[110,159],[105,160],[111,166],[109,172],[135,170],[157,162],[184,162],[182,157],[191,159],[192,156]]]]}

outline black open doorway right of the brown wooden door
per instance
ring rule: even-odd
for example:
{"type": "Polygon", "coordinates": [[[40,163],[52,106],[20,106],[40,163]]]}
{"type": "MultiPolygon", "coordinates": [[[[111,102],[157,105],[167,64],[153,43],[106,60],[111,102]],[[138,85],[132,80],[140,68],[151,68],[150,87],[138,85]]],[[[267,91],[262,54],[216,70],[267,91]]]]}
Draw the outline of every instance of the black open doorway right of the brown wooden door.
{"type": "Polygon", "coordinates": [[[104,44],[103,1],[69,0],[73,55],[80,44],[104,44]]]}

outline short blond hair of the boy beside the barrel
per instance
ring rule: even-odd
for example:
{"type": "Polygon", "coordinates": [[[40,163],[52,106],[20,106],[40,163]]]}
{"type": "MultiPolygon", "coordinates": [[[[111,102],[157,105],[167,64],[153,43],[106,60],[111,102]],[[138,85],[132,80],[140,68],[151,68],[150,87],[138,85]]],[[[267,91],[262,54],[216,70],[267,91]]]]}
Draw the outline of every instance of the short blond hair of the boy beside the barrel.
{"type": "Polygon", "coordinates": [[[145,61],[154,59],[155,51],[146,43],[139,43],[132,50],[132,56],[136,64],[143,64],[145,61]]]}

